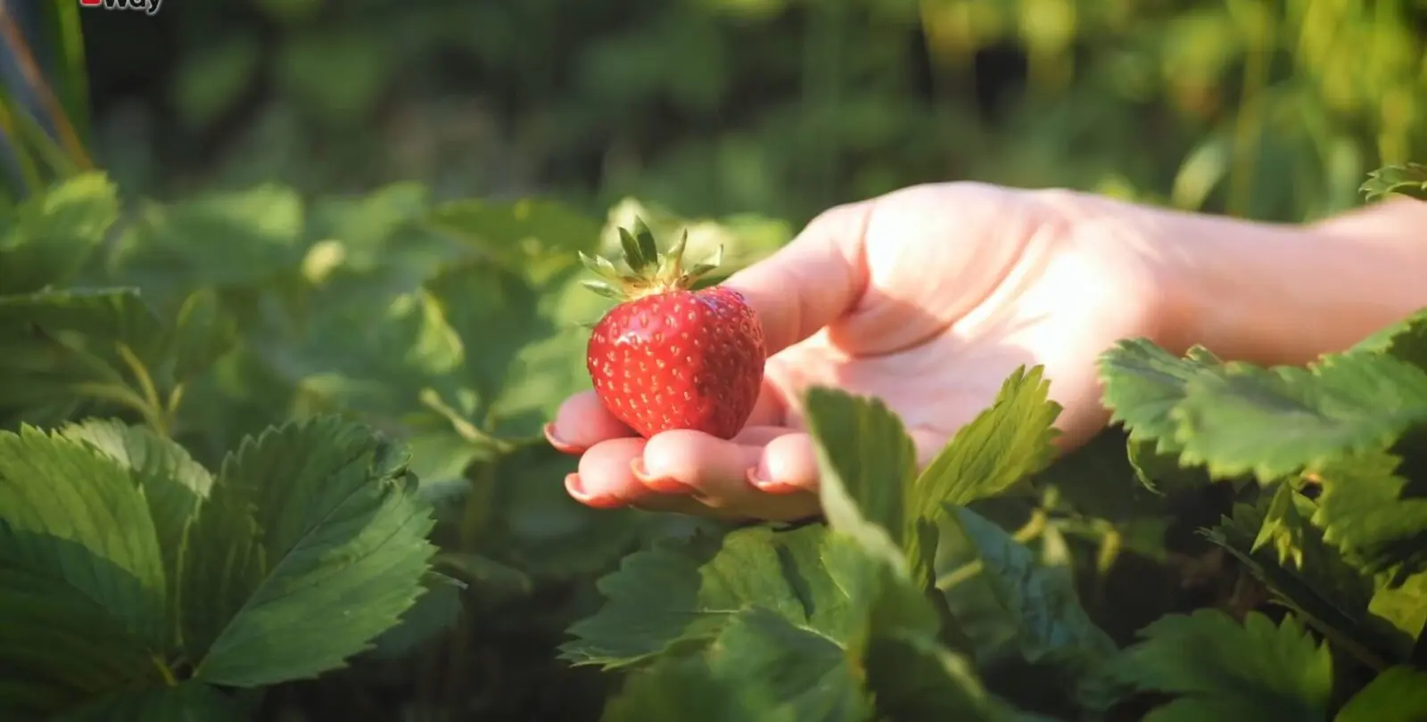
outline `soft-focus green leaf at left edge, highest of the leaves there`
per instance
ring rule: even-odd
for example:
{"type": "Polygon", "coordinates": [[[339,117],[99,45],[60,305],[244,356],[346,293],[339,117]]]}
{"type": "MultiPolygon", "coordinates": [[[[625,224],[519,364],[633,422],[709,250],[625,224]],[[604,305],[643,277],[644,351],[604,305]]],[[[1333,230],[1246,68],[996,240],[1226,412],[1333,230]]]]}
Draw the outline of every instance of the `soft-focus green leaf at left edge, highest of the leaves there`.
{"type": "Polygon", "coordinates": [[[70,283],[118,218],[118,193],[83,173],[24,200],[0,221],[0,294],[70,283]]]}

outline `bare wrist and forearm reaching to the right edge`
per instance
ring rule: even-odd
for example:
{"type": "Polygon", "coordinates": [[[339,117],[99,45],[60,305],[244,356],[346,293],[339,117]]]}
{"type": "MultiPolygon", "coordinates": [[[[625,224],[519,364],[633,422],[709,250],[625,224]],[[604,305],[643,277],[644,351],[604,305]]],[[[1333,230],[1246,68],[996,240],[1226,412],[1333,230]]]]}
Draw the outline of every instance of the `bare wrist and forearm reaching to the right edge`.
{"type": "Polygon", "coordinates": [[[1152,210],[1166,338],[1226,360],[1306,364],[1427,307],[1427,204],[1310,225],[1152,210]]]}

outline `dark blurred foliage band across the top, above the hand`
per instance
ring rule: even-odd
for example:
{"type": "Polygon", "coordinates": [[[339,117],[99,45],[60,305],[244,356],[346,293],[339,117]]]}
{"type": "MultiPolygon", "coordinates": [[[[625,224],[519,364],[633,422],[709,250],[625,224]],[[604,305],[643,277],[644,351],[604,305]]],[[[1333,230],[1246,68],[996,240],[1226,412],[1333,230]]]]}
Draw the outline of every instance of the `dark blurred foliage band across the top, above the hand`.
{"type": "MultiPolygon", "coordinates": [[[[170,1],[157,16],[80,13],[93,114],[78,117],[121,187],[163,197],[401,178],[438,197],[604,208],[638,195],[798,224],[973,178],[1301,220],[1357,203],[1368,170],[1424,153],[1423,9],[170,1]]],[[[74,61],[60,43],[41,50],[54,68],[74,61]]],[[[80,103],[76,84],[60,96],[80,103]]]]}

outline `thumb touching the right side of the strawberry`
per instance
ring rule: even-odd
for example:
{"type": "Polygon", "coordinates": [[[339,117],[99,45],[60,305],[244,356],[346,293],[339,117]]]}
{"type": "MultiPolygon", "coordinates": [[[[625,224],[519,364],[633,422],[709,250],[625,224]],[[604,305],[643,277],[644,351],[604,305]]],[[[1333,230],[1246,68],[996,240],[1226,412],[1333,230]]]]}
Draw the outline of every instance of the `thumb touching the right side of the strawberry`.
{"type": "Polygon", "coordinates": [[[823,211],[788,245],[722,284],[743,294],[758,314],[768,355],[832,324],[862,297],[870,211],[870,201],[823,211]]]}

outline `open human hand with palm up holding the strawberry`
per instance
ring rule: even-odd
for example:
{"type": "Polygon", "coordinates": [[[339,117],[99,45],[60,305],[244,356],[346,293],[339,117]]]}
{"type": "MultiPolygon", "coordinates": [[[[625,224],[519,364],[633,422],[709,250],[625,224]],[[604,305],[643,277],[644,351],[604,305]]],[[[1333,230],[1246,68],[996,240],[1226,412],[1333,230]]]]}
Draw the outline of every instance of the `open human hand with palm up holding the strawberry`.
{"type": "Polygon", "coordinates": [[[596,508],[634,505],[719,518],[818,511],[818,465],[799,411],[805,388],[880,397],[922,464],[989,407],[1019,365],[1043,364],[1073,447],[1107,421],[1097,357],[1162,331],[1144,208],[1069,191],[975,183],[903,188],[815,218],[788,247],[733,277],[768,344],[743,431],[639,438],[594,391],[565,401],[547,437],[579,455],[565,485],[596,508]]]}

